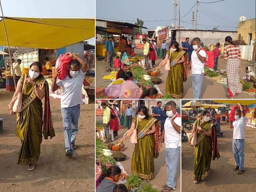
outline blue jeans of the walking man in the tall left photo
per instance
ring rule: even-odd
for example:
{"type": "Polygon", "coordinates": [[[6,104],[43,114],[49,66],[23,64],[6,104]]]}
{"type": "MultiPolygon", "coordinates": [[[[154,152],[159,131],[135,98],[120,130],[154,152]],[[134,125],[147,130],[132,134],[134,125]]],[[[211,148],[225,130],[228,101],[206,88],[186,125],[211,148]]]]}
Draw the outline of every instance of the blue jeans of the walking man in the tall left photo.
{"type": "Polygon", "coordinates": [[[62,108],[62,119],[64,127],[64,139],[66,151],[74,153],[71,144],[75,144],[76,134],[78,133],[78,119],[80,116],[80,105],[62,108]]]}

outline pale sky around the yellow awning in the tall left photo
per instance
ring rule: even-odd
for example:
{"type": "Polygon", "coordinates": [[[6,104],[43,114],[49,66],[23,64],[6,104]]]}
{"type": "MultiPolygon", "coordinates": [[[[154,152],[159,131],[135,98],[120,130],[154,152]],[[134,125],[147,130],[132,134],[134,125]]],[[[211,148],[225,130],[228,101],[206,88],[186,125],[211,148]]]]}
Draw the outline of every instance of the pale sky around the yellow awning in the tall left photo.
{"type": "MultiPolygon", "coordinates": [[[[5,16],[95,18],[95,0],[1,0],[5,16]]],[[[95,39],[90,39],[95,44],[95,39]]]]}

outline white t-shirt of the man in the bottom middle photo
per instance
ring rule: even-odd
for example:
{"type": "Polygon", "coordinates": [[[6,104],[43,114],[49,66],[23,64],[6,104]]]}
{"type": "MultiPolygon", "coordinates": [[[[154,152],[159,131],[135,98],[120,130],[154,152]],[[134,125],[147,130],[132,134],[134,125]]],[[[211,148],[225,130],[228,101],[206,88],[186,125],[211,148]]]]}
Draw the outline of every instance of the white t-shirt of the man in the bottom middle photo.
{"type": "MultiPolygon", "coordinates": [[[[174,123],[181,126],[181,118],[176,117],[174,123]]],[[[170,117],[167,117],[164,124],[165,130],[165,148],[178,148],[181,146],[181,134],[178,133],[171,124],[170,117]]]]}

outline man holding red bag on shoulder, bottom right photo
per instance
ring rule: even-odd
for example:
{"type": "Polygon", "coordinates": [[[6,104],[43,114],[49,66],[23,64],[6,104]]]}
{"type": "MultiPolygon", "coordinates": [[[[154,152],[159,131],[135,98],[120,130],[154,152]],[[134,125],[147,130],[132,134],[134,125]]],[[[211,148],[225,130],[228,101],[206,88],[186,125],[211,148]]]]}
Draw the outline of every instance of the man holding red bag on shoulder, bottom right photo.
{"type": "Polygon", "coordinates": [[[238,170],[239,175],[243,174],[244,168],[244,143],[245,143],[245,127],[246,114],[244,107],[238,103],[240,109],[235,110],[235,121],[229,121],[229,126],[233,130],[233,154],[235,158],[234,171],[238,170]]]}

